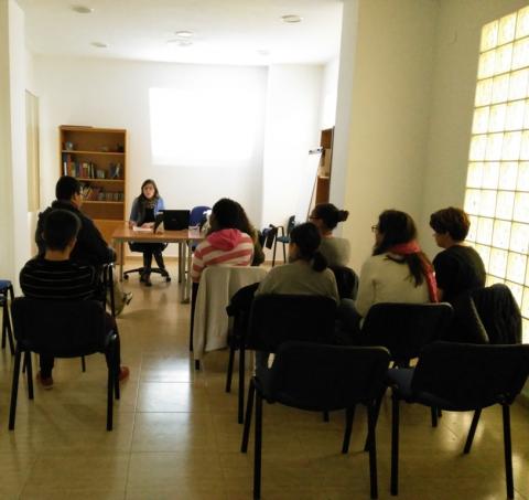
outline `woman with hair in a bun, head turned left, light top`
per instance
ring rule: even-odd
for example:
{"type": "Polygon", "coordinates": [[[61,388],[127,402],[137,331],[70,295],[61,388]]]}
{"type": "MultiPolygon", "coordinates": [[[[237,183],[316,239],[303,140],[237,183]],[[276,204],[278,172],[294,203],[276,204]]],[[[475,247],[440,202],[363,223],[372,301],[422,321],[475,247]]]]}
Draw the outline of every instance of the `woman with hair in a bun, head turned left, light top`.
{"type": "Polygon", "coordinates": [[[349,241],[333,236],[333,230],[338,222],[346,221],[348,216],[347,210],[338,210],[332,203],[317,204],[309,215],[309,221],[320,230],[322,235],[320,252],[325,256],[330,266],[347,266],[349,264],[349,241]]]}

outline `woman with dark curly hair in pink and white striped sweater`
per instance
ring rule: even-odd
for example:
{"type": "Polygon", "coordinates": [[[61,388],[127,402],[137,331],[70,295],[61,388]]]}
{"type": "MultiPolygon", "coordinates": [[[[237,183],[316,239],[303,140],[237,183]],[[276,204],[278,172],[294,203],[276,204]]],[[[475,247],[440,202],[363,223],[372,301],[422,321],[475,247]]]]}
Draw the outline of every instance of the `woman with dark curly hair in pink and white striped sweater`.
{"type": "Polygon", "coordinates": [[[191,277],[194,283],[201,280],[202,272],[207,266],[251,265],[253,241],[249,234],[237,228],[240,225],[239,220],[240,205],[237,202],[223,198],[213,205],[209,233],[193,255],[191,277]]]}

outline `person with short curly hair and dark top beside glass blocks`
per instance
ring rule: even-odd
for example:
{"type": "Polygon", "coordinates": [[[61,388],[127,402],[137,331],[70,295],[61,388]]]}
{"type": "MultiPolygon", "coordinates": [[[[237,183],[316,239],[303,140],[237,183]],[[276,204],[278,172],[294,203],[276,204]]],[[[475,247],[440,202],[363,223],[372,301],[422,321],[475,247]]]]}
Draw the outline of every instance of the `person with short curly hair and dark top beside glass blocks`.
{"type": "Polygon", "coordinates": [[[449,206],[430,215],[433,237],[441,248],[433,259],[440,299],[453,302],[465,292],[485,286],[486,272],[479,254],[465,238],[471,227],[468,215],[449,206]]]}

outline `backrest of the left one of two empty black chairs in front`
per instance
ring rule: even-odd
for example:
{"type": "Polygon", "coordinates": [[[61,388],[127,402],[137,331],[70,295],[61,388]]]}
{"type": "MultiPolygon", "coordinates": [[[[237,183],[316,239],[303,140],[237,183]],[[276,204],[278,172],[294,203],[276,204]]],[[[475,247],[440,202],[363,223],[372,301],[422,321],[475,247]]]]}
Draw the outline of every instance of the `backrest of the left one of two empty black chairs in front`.
{"type": "Polygon", "coordinates": [[[273,361],[264,395],[302,409],[352,407],[382,393],[389,361],[388,350],[380,347],[284,342],[273,361]]]}

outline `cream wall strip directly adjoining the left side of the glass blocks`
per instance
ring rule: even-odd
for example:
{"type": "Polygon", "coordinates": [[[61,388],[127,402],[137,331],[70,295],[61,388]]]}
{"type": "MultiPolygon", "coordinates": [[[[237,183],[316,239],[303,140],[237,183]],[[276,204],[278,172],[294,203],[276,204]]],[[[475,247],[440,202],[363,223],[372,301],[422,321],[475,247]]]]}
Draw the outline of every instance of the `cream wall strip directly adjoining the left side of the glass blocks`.
{"type": "MultiPolygon", "coordinates": [[[[433,73],[431,128],[423,183],[421,227],[430,214],[463,206],[482,26],[527,6],[525,0],[443,0],[433,73]]],[[[424,238],[433,256],[439,248],[424,238]]]]}

